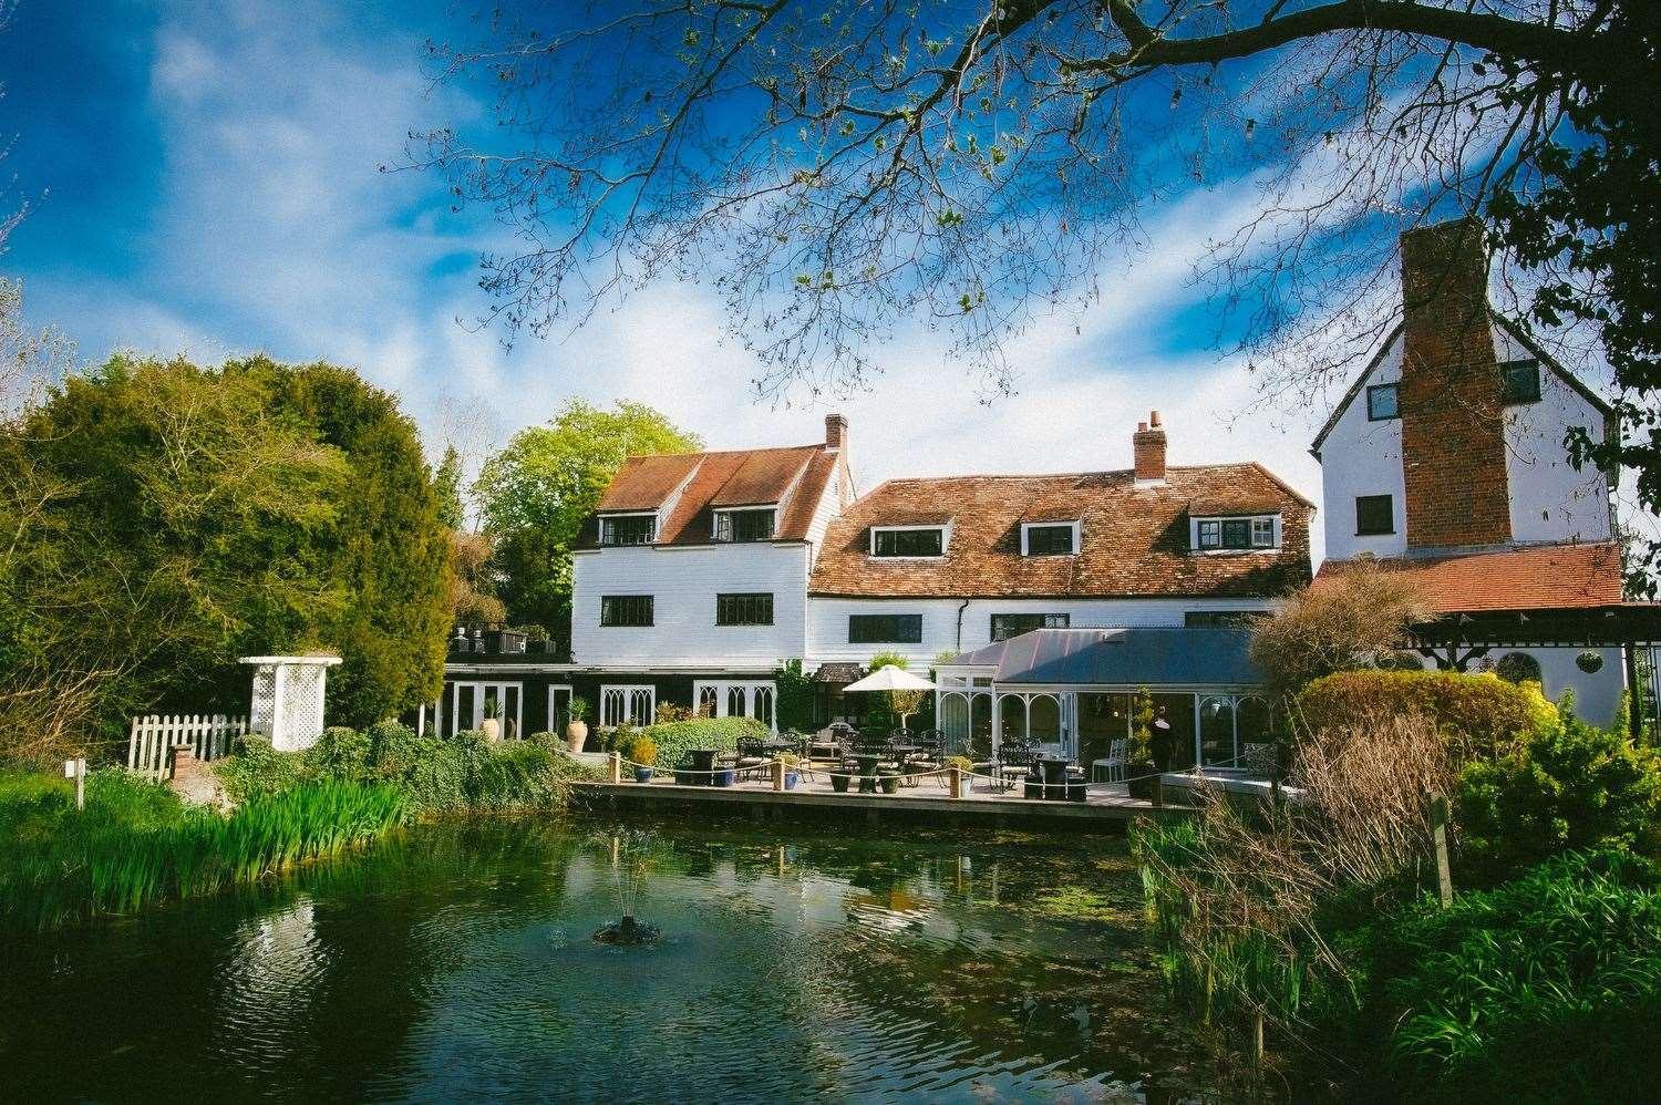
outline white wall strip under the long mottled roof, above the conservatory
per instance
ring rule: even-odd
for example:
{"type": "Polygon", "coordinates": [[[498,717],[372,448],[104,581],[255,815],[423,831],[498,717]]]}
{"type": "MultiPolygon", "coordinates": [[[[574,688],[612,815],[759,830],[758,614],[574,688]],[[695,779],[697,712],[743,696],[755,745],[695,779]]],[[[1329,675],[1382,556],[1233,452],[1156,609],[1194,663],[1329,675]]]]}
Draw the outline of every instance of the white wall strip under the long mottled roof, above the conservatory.
{"type": "Polygon", "coordinates": [[[1189,610],[1269,610],[1271,598],[972,598],[963,607],[958,640],[960,598],[809,598],[807,666],[827,660],[869,661],[877,653],[897,651],[912,670],[924,671],[942,651],[970,651],[992,641],[993,613],[1065,613],[1068,628],[1179,626],[1189,610]],[[855,613],[920,613],[920,645],[850,645],[847,620],[855,613]]]}

